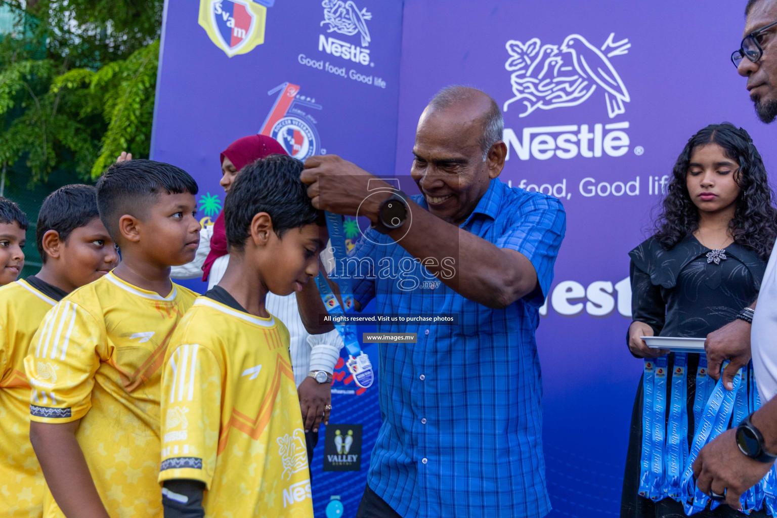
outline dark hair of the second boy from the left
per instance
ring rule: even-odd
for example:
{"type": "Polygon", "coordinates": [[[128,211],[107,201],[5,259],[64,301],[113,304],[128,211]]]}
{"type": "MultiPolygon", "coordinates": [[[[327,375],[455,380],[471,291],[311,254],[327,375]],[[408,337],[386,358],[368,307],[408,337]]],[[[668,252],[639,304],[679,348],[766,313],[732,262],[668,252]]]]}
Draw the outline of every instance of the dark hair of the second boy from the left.
{"type": "Polygon", "coordinates": [[[60,240],[66,241],[72,231],[91,223],[96,217],[99,217],[99,212],[97,189],[94,186],[74,183],[46,196],[40,206],[35,227],[35,241],[44,264],[48,259],[48,254],[44,252],[44,234],[47,231],[57,231],[60,240]]]}

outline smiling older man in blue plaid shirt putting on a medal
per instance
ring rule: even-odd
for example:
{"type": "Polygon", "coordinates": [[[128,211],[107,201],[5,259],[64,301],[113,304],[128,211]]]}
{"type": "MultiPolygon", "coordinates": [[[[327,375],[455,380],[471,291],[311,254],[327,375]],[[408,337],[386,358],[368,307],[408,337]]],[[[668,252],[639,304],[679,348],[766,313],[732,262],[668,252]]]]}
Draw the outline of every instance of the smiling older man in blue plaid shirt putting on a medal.
{"type": "MultiPolygon", "coordinates": [[[[378,325],[417,342],[379,346],[383,422],[357,516],[550,510],[535,329],[566,216],[556,198],[498,179],[502,130],[485,93],[438,92],[416,131],[413,199],[365,200],[380,180],[339,157],[305,163],[315,207],[374,223],[347,260],[357,309],[375,298],[383,314],[458,314],[458,325],[378,325]]],[[[298,295],[308,322],[326,312],[313,284],[298,295]]]]}

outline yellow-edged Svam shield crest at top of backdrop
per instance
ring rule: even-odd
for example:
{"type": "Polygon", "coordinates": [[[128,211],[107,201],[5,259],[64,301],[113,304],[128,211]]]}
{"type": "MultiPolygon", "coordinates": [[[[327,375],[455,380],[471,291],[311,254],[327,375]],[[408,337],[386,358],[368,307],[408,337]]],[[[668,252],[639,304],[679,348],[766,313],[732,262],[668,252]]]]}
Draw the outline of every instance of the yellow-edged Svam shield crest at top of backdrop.
{"type": "Polygon", "coordinates": [[[250,0],[200,0],[200,26],[229,57],[264,43],[266,19],[267,7],[250,0]]]}

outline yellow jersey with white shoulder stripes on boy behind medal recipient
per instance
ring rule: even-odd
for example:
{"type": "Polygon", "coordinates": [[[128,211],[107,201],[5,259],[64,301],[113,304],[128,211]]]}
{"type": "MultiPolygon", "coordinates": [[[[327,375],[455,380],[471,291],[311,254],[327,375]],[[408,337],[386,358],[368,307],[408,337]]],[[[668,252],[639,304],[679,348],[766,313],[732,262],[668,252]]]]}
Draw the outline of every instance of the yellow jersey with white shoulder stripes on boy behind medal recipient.
{"type": "MultiPolygon", "coordinates": [[[[30,419],[81,419],[76,438],[110,516],[162,516],[162,360],[197,294],[161,297],[113,273],[64,297],[30,342],[30,419]]],[[[51,493],[44,516],[63,516],[51,493]]]]}

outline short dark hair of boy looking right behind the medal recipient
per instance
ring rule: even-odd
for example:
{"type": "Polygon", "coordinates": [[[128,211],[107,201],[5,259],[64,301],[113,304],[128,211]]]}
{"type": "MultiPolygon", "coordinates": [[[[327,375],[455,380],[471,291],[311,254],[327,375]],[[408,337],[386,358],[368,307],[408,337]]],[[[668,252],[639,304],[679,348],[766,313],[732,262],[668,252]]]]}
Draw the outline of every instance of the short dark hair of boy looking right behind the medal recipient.
{"type": "Polygon", "coordinates": [[[97,208],[106,230],[119,242],[119,218],[142,217],[160,194],[197,194],[197,182],[188,172],[153,160],[127,160],[111,165],[97,181],[97,208]]]}

